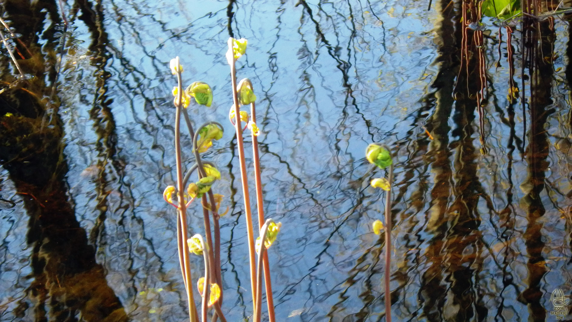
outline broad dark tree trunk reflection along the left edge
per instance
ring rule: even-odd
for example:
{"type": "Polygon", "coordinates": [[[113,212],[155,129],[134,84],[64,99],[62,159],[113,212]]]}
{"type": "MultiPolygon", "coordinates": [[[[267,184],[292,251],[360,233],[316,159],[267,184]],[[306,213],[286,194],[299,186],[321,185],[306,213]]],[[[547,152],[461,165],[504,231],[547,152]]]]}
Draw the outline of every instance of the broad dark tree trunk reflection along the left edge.
{"type": "MultiPolygon", "coordinates": [[[[42,99],[51,96],[46,75],[54,82],[57,74],[55,26],[61,23],[57,3],[5,1],[3,5],[5,20],[22,35],[18,50],[25,57],[18,63],[34,76],[5,88],[0,96],[0,162],[29,216],[33,281],[27,296],[34,303],[34,320],[77,321],[81,315],[86,321],[126,321],[124,308],[108,286],[104,268],[96,262],[95,249],[70,204],[63,125],[50,109],[59,101],[42,99]],[[40,45],[41,38],[46,39],[45,45],[40,45]],[[46,72],[44,66],[50,69],[46,72]]],[[[13,83],[9,58],[3,56],[2,65],[2,82],[13,83]]],[[[17,315],[24,317],[27,305],[22,301],[17,315]]]]}

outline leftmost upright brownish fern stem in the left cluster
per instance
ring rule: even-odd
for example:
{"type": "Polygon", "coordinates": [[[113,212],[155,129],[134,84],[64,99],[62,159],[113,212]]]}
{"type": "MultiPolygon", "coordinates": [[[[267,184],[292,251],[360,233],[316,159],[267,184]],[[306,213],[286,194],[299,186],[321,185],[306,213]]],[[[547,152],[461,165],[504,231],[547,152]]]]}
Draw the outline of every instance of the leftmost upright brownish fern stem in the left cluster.
{"type": "MultiPolygon", "coordinates": [[[[175,158],[177,164],[177,197],[178,197],[178,216],[181,221],[181,237],[182,238],[182,257],[184,266],[184,281],[186,287],[186,297],[189,304],[189,319],[190,322],[198,322],[197,307],[194,305],[193,287],[190,276],[190,263],[189,263],[189,247],[186,243],[188,238],[187,224],[186,224],[186,202],[185,202],[185,189],[183,187],[183,174],[182,174],[182,158],[181,158],[181,109],[182,109],[182,79],[181,79],[181,69],[178,57],[176,58],[176,64],[178,67],[177,71],[177,83],[178,83],[178,94],[177,100],[175,102],[176,112],[175,112],[175,158]]],[[[181,242],[177,241],[177,245],[181,242]]]]}

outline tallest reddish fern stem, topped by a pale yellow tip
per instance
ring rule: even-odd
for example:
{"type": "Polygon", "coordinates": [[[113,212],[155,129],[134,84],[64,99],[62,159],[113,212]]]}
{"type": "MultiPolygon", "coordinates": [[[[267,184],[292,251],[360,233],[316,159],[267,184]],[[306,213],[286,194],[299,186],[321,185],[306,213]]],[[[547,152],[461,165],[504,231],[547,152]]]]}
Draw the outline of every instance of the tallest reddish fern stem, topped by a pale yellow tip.
{"type": "MultiPolygon", "coordinates": [[[[233,55],[233,38],[228,39],[228,53],[227,55],[233,55]]],[[[240,121],[240,106],[239,98],[236,92],[236,66],[235,59],[227,57],[229,65],[231,65],[231,84],[232,84],[232,100],[235,108],[235,130],[236,130],[236,143],[239,150],[239,162],[240,162],[240,177],[243,186],[243,198],[244,198],[244,212],[246,214],[247,221],[247,238],[248,238],[248,255],[250,264],[250,275],[251,275],[251,288],[252,288],[252,300],[253,304],[256,306],[256,267],[255,267],[255,247],[254,247],[254,231],[252,228],[252,212],[250,205],[250,195],[248,192],[248,179],[247,179],[247,165],[244,160],[244,141],[243,141],[243,129],[241,128],[240,121]]],[[[256,309],[256,307],[255,307],[256,309]]]]}

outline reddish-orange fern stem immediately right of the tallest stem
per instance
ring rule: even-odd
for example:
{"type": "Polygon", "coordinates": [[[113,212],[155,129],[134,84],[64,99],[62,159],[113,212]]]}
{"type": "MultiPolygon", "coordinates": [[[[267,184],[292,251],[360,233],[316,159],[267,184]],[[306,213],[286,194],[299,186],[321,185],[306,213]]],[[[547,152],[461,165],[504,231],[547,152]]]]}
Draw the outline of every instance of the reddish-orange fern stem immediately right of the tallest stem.
{"type": "MultiPolygon", "coordinates": [[[[254,102],[251,103],[251,120],[256,124],[256,106],[254,102]]],[[[258,137],[255,136],[254,133],[252,134],[252,156],[254,160],[254,175],[256,184],[256,209],[258,212],[258,224],[259,224],[259,229],[262,229],[264,222],[264,197],[262,193],[262,181],[260,179],[261,171],[260,171],[260,157],[258,150],[258,137]]],[[[266,288],[265,291],[266,291],[266,302],[268,306],[268,320],[269,322],[276,322],[274,313],[274,297],[272,296],[272,281],[270,277],[270,264],[268,262],[268,252],[264,252],[262,259],[264,264],[264,286],[266,288]]]]}

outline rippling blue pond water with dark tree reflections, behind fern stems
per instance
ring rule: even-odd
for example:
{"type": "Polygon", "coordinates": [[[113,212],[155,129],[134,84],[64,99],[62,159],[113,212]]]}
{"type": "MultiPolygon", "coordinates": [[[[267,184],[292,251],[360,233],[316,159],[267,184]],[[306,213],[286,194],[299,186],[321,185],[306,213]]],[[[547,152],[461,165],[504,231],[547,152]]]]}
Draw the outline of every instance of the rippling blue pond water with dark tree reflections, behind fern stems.
{"type": "MultiPolygon", "coordinates": [[[[193,122],[225,126],[204,157],[229,206],[223,312],[252,316],[229,37],[248,39],[237,77],[258,97],[265,211],[283,224],[269,249],[277,321],[385,320],[371,228],[384,193],[369,182],[386,172],[364,155],[376,141],[395,154],[394,320],[566,319],[554,294],[572,293],[567,17],[464,28],[460,1],[427,6],[4,1],[14,35],[3,33],[30,79],[15,81],[3,45],[0,321],[188,319],[161,196],[176,180],[176,56],[185,86],[213,89],[193,122]]],[[[189,208],[192,233],[200,210],[189,208]]]]}

